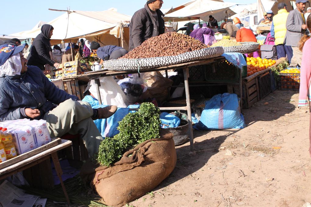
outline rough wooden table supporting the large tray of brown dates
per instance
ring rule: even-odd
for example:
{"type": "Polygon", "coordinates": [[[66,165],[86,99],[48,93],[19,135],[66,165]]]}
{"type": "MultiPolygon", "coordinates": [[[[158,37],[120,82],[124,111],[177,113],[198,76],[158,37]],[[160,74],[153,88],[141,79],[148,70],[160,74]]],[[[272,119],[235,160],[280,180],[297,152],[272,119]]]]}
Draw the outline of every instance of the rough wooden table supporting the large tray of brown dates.
{"type": "MultiPolygon", "coordinates": [[[[165,70],[166,73],[166,77],[168,77],[167,75],[167,70],[171,70],[171,69],[183,69],[183,78],[184,78],[184,86],[185,87],[185,91],[186,91],[186,106],[183,107],[160,107],[160,110],[186,110],[187,111],[187,115],[188,115],[188,125],[189,125],[189,130],[188,130],[188,134],[189,134],[189,139],[190,139],[190,156],[194,156],[196,153],[194,151],[194,146],[193,146],[193,128],[192,128],[192,120],[191,120],[191,104],[190,104],[190,92],[189,92],[189,67],[191,66],[197,66],[197,65],[211,65],[213,68],[215,68],[215,66],[213,65],[214,63],[216,63],[216,61],[220,61],[225,59],[225,57],[223,56],[219,56],[219,57],[215,57],[215,58],[210,58],[210,59],[206,59],[206,60],[199,60],[199,61],[191,61],[191,62],[187,62],[187,63],[181,63],[181,64],[176,64],[176,65],[168,65],[168,66],[164,66],[164,67],[159,67],[159,68],[153,68],[153,69],[146,69],[146,70],[142,70],[140,71],[141,73],[147,73],[147,72],[154,72],[154,71],[161,71],[161,70],[165,70]]],[[[77,76],[72,76],[70,78],[67,79],[74,79],[74,78],[82,78],[82,77],[88,77],[90,80],[93,79],[95,80],[95,86],[96,86],[96,90],[97,90],[97,97],[98,97],[98,101],[101,104],[101,97],[100,97],[100,90],[99,90],[99,86],[100,86],[100,77],[108,77],[108,76],[115,76],[115,75],[126,75],[126,74],[138,74],[138,71],[111,71],[111,70],[106,70],[106,71],[94,71],[94,72],[89,72],[87,74],[82,74],[82,75],[77,75],[77,76]]],[[[239,79],[239,85],[240,85],[240,94],[242,94],[242,71],[240,70],[240,79],[239,79]]],[[[241,101],[242,104],[242,101],[241,101]]],[[[242,108],[242,106],[241,106],[242,108]]]]}

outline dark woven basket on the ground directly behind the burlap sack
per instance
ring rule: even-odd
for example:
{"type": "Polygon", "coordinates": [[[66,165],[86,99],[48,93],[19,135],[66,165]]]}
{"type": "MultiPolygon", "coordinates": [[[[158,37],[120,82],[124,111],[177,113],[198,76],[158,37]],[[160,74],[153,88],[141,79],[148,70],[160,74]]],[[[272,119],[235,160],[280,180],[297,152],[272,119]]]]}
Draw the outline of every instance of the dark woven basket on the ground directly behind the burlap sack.
{"type": "Polygon", "coordinates": [[[169,130],[171,133],[173,133],[175,146],[181,145],[187,142],[189,139],[188,135],[189,124],[188,121],[186,120],[181,119],[179,127],[166,128],[166,129],[169,130]]]}

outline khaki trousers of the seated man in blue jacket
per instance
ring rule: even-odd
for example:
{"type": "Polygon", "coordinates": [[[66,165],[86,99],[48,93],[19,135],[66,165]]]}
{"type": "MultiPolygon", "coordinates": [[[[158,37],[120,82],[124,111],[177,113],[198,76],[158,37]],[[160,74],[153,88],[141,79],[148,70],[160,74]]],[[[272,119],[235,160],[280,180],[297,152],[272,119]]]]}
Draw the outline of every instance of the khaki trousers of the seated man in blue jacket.
{"type": "Polygon", "coordinates": [[[66,133],[80,134],[89,156],[92,156],[104,140],[91,119],[92,115],[89,103],[68,99],[47,112],[44,120],[52,137],[62,137],[66,133]]]}

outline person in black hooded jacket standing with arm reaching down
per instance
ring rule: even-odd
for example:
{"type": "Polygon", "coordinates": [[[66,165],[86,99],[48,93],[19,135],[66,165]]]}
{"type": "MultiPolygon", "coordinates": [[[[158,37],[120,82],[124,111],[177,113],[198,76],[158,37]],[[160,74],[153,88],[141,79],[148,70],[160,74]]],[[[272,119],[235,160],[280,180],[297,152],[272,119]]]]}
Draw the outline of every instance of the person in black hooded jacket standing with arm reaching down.
{"type": "Polygon", "coordinates": [[[52,51],[50,38],[53,35],[52,25],[44,24],[41,33],[33,41],[30,47],[30,54],[27,65],[35,65],[44,70],[44,65],[49,64],[58,68],[59,64],[51,60],[49,52],[52,51]]]}

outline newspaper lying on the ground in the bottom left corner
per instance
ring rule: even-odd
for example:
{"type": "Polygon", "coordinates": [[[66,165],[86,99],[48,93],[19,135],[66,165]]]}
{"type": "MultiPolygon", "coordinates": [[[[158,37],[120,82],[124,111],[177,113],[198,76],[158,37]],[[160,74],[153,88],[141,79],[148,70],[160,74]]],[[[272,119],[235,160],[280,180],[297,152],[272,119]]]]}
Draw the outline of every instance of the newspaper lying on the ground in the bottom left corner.
{"type": "Polygon", "coordinates": [[[0,206],[33,207],[38,198],[39,196],[27,194],[7,180],[0,185],[0,206]]]}

